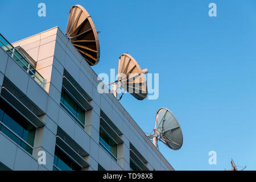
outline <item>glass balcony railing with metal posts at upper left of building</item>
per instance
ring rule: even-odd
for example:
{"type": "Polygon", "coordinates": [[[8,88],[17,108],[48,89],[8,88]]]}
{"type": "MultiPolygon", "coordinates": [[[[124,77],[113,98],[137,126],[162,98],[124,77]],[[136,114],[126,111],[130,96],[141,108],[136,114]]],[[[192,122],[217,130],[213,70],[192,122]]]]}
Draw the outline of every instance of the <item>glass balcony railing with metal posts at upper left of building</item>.
{"type": "Polygon", "coordinates": [[[19,53],[19,51],[11,45],[8,40],[6,40],[2,34],[0,34],[0,46],[4,51],[9,53],[11,57],[22,67],[28,75],[30,75],[40,86],[46,89],[46,79],[44,79],[40,73],[30,64],[30,62],[19,53]]]}

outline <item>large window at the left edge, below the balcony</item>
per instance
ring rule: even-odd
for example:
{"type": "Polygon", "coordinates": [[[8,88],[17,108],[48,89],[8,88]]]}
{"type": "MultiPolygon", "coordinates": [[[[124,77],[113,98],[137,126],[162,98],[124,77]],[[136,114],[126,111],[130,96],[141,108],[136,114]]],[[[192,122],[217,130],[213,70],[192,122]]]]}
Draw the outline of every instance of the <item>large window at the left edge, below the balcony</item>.
{"type": "Polygon", "coordinates": [[[35,126],[31,125],[13,107],[1,100],[0,131],[30,154],[32,154],[34,146],[35,130],[35,126]]]}

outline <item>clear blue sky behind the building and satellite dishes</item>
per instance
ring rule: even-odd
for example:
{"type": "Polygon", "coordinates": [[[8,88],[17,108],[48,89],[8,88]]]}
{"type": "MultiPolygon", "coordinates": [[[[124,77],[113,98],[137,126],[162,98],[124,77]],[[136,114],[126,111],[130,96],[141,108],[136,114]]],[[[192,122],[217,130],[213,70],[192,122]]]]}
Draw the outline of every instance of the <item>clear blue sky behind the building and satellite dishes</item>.
{"type": "MultiPolygon", "coordinates": [[[[230,159],[256,170],[256,1],[1,1],[0,32],[10,42],[59,26],[80,4],[92,16],[101,46],[96,73],[118,68],[130,53],[150,73],[159,73],[159,98],[121,104],[150,133],[160,107],[170,109],[183,131],[183,147],[159,150],[176,170],[230,169],[230,159]],[[46,3],[46,17],[38,3],[46,3]],[[209,17],[209,3],[217,17],[209,17]],[[217,164],[208,152],[217,152],[217,164]]],[[[239,168],[241,169],[241,168],[239,168]]]]}

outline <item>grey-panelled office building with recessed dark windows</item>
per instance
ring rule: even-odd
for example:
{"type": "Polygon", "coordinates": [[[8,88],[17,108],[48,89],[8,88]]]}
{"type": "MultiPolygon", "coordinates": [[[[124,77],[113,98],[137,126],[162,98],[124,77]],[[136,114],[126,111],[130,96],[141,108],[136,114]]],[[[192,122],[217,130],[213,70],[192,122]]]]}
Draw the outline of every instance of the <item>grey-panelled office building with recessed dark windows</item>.
{"type": "Polygon", "coordinates": [[[0,169],[174,170],[58,27],[0,40],[0,169]]]}

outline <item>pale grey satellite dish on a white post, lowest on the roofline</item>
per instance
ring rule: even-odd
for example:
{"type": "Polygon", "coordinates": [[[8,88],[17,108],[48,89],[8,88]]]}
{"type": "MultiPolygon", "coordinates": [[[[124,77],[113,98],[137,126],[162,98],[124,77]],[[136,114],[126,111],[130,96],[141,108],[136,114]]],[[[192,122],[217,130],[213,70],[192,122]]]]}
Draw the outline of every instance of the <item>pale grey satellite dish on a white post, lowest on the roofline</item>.
{"type": "Polygon", "coordinates": [[[148,135],[153,139],[158,148],[158,140],[166,144],[172,150],[179,150],[183,144],[183,134],[176,117],[166,108],[161,108],[156,113],[154,134],[148,135]]]}

